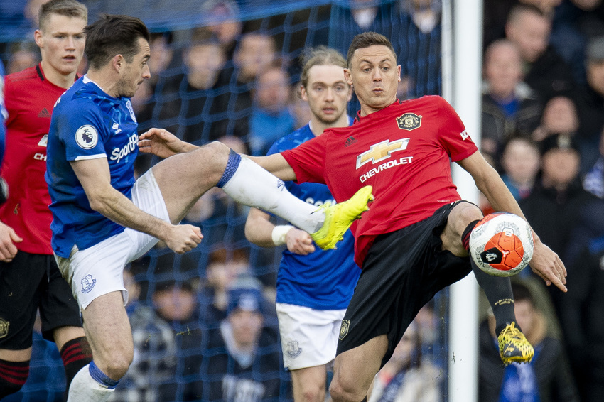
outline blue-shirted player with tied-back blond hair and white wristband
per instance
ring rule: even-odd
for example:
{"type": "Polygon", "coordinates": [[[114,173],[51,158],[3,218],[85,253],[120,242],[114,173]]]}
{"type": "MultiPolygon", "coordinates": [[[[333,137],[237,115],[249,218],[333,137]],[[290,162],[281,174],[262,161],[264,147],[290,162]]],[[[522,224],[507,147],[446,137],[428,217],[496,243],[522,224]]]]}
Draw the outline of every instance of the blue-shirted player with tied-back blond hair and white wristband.
{"type": "MultiPolygon", "coordinates": [[[[345,113],[352,96],[345,68],[346,60],[336,50],[319,47],[308,52],[301,97],[311,109],[311,121],[276,141],[269,154],[296,148],[328,127],[352,124],[345,113]]],[[[311,205],[334,202],[324,184],[288,181],[286,187],[311,205]]],[[[245,234],[259,246],[287,245],[276,288],[284,365],[291,371],[294,401],[323,401],[328,364],[335,358],[340,325],[361,272],[352,258],[352,232],[346,232],[338,249],[323,251],[313,246],[308,233],[291,225],[276,226],[270,214],[252,208],[245,234]]]]}

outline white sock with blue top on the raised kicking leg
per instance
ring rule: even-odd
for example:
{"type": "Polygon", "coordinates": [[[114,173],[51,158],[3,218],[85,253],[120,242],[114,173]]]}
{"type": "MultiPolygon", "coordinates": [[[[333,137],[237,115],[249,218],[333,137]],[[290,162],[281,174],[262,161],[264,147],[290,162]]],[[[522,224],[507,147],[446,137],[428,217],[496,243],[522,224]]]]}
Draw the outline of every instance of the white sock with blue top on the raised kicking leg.
{"type": "Polygon", "coordinates": [[[323,226],[325,214],[317,212],[315,205],[294,197],[285,188],[283,180],[237,153],[230,154],[218,187],[233,200],[282,217],[308,233],[323,226]]]}

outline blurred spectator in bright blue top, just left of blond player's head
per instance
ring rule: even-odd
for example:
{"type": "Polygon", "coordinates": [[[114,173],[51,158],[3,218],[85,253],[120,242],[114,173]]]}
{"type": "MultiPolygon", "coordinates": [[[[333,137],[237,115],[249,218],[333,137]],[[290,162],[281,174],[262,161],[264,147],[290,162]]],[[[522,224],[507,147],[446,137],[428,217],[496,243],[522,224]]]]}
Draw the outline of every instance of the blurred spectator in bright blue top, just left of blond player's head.
{"type": "Polygon", "coordinates": [[[248,136],[252,155],[266,155],[276,140],[296,129],[290,99],[289,75],[279,65],[268,67],[257,77],[248,136]]]}

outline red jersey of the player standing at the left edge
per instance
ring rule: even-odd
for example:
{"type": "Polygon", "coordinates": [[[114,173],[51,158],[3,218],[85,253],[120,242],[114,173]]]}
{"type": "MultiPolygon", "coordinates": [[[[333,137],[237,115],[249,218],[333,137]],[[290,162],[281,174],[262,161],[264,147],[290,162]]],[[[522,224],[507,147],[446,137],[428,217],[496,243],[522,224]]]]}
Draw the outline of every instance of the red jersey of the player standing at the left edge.
{"type": "Polygon", "coordinates": [[[9,184],[9,200],[0,207],[0,220],[23,237],[23,242],[16,243],[17,249],[32,254],[53,254],[53,215],[44,180],[46,139],[50,114],[63,92],[65,88],[46,80],[40,64],[6,76],[9,119],[0,175],[9,184]]]}

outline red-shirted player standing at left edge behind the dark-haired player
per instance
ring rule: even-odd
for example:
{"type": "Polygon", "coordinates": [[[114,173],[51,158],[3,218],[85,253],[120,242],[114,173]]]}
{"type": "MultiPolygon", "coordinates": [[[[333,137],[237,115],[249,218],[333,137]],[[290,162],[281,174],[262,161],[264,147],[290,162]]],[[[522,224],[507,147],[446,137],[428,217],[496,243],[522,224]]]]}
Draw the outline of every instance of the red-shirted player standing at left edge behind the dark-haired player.
{"type": "Polygon", "coordinates": [[[51,0],[39,16],[34,38],[41,63],[6,77],[9,118],[0,174],[10,192],[0,208],[0,399],[28,377],[38,308],[43,337],[57,344],[63,358],[66,389],[91,359],[80,310],[50,247],[53,217],[44,180],[50,113],[77,78],[87,9],[75,0],[51,0]]]}

